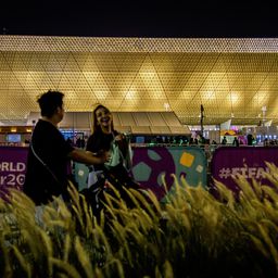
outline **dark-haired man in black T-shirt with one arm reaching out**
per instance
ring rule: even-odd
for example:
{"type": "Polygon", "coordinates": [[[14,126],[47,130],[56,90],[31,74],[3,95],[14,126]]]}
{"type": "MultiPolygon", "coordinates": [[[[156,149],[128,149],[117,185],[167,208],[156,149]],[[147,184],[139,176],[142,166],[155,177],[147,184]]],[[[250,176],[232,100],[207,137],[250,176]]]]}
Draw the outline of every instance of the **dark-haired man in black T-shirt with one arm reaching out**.
{"type": "Polygon", "coordinates": [[[58,129],[64,116],[63,97],[60,91],[49,90],[38,99],[41,118],[33,131],[23,186],[23,191],[36,205],[51,202],[53,195],[68,198],[67,165],[71,159],[86,164],[102,164],[109,160],[108,153],[94,156],[64,139],[58,129]]]}

